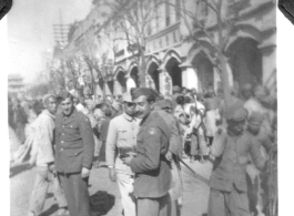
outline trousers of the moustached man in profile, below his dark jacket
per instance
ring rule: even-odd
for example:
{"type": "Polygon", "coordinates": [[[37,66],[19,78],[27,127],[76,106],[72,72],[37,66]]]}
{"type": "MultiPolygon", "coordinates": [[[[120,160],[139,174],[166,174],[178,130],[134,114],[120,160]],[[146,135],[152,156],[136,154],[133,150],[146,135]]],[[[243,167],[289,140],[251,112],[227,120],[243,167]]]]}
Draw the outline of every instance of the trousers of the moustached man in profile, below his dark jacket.
{"type": "Polygon", "coordinates": [[[166,195],[159,198],[139,197],[136,199],[138,216],[170,216],[171,215],[171,196],[166,195]]]}

